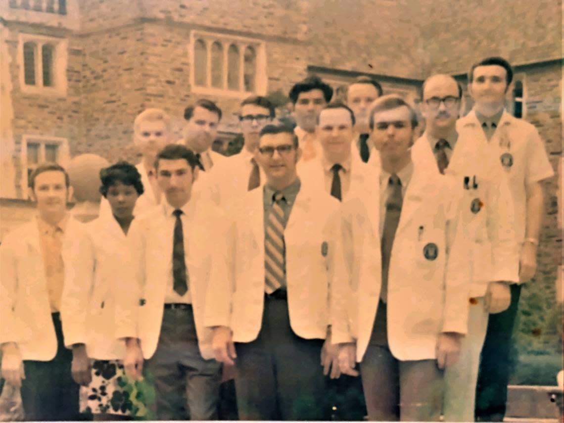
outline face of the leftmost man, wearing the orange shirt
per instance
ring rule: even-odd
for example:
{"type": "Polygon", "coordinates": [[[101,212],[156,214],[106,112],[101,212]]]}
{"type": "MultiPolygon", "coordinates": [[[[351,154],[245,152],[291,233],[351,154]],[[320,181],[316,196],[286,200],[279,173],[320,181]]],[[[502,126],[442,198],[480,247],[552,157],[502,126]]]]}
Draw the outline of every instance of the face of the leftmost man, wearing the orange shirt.
{"type": "Polygon", "coordinates": [[[64,173],[60,170],[47,170],[37,175],[30,196],[37,201],[39,214],[64,214],[69,197],[64,173]]]}

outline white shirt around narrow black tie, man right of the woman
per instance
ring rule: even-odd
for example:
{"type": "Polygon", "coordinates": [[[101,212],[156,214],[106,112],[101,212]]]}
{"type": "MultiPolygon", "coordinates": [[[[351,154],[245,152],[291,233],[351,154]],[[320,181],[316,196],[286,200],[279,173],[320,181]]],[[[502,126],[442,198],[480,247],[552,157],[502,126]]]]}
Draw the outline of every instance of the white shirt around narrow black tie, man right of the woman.
{"type": "MultiPolygon", "coordinates": [[[[162,205],[163,213],[166,216],[167,228],[166,232],[169,234],[169,242],[172,245],[174,242],[174,225],[176,223],[176,217],[173,211],[176,210],[173,206],[168,204],[167,201],[163,201],[162,205]]],[[[169,267],[166,271],[166,291],[165,291],[165,304],[168,303],[186,303],[190,304],[192,302],[192,294],[190,289],[190,266],[188,257],[190,257],[190,251],[188,251],[188,236],[190,236],[190,224],[192,222],[192,217],[195,213],[195,202],[188,201],[180,210],[183,213],[180,215],[180,221],[182,221],[182,233],[184,238],[184,261],[186,262],[186,281],[188,283],[188,290],[184,295],[179,295],[174,290],[174,277],[173,277],[173,263],[171,257],[163,257],[162,259],[169,260],[169,267]]],[[[171,249],[172,251],[172,249],[171,249]]]]}

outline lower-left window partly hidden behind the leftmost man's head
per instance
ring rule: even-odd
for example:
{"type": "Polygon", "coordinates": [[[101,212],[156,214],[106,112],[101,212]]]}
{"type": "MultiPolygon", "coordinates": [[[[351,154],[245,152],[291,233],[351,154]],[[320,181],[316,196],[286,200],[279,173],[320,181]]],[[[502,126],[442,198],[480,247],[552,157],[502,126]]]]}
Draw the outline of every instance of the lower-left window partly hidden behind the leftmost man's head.
{"type": "Polygon", "coordinates": [[[70,160],[68,142],[65,138],[39,135],[24,135],[21,148],[23,167],[22,187],[28,186],[29,175],[42,163],[57,163],[63,167],[70,160]]]}

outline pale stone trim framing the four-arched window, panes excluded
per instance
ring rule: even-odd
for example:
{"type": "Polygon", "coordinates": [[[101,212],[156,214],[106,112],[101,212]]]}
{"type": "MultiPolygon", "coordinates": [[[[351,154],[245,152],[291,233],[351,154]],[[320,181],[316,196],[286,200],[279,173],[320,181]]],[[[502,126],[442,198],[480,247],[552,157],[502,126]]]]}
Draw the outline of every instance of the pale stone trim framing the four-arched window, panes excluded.
{"type": "Polygon", "coordinates": [[[190,61],[190,85],[192,92],[196,94],[208,94],[222,97],[232,97],[244,99],[249,95],[266,95],[268,78],[266,75],[266,43],[258,39],[228,36],[225,34],[205,32],[205,31],[192,31],[190,33],[190,45],[188,46],[189,61],[190,61]],[[194,46],[197,39],[203,39],[206,43],[206,85],[205,87],[196,86],[196,66],[194,46]],[[223,47],[223,85],[227,87],[227,71],[228,60],[227,52],[231,44],[235,44],[239,49],[239,86],[243,90],[229,90],[211,87],[211,45],[214,41],[221,43],[223,47]],[[256,52],[256,73],[255,73],[255,91],[244,90],[244,60],[245,48],[251,46],[256,52]]]}

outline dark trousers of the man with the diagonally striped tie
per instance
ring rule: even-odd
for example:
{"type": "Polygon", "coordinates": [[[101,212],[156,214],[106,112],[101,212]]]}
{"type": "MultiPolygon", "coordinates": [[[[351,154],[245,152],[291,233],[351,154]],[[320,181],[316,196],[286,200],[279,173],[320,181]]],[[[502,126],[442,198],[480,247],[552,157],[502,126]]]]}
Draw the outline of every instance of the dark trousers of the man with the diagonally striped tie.
{"type": "Polygon", "coordinates": [[[257,339],[235,347],[239,418],[327,420],[322,346],[292,331],[286,299],[266,297],[257,339]]]}

